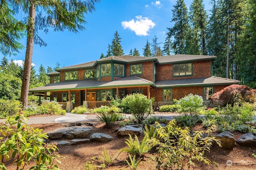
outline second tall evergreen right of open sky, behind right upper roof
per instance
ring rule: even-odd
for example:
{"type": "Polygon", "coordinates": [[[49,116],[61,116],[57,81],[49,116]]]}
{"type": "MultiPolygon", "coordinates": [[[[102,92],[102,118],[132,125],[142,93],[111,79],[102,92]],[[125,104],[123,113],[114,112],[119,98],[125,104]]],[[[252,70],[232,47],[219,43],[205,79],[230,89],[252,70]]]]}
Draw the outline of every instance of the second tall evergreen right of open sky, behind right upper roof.
{"type": "Polygon", "coordinates": [[[206,10],[204,10],[203,0],[193,0],[190,6],[190,19],[192,22],[193,32],[196,32],[197,34],[200,32],[201,40],[198,44],[201,46],[201,55],[206,55],[205,30],[207,26],[207,17],[206,10]]]}

